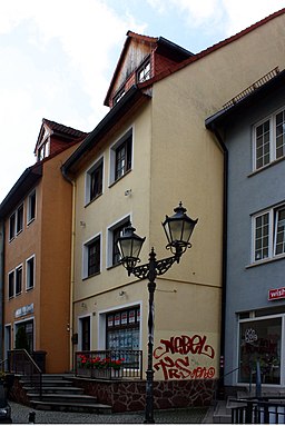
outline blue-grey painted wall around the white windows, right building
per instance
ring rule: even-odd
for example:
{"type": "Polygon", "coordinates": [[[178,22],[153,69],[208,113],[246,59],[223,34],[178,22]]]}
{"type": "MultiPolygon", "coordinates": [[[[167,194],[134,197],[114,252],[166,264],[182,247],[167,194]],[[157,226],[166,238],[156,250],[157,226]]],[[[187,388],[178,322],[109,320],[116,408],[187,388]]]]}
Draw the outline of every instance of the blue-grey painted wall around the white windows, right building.
{"type": "MultiPolygon", "coordinates": [[[[284,257],[252,264],[252,215],[285,200],[285,162],[253,174],[253,126],[284,108],[285,90],[278,89],[254,108],[245,109],[226,127],[228,148],[228,273],[225,367],[238,366],[237,314],[253,309],[285,308],[284,299],[268,301],[268,290],[284,287],[284,257]]],[[[235,385],[236,375],[226,384],[235,385]]]]}

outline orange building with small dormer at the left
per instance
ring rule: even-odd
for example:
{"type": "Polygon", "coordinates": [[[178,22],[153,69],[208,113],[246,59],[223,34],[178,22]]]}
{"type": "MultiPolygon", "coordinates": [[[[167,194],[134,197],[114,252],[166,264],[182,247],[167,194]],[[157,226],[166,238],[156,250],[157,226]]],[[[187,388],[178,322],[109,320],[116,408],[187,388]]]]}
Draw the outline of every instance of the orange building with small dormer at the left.
{"type": "Polygon", "coordinates": [[[43,119],[37,162],[0,205],[3,359],[13,348],[42,351],[48,373],[70,364],[72,192],[60,167],[85,136],[43,119]]]}

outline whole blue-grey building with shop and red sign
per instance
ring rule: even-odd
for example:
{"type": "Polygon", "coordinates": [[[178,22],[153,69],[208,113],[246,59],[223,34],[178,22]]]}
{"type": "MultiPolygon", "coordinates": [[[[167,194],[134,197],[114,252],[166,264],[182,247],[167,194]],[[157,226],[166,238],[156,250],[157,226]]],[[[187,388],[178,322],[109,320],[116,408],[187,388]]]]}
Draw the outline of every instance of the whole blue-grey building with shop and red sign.
{"type": "Polygon", "coordinates": [[[225,386],[285,387],[285,71],[206,120],[225,153],[225,386]]]}

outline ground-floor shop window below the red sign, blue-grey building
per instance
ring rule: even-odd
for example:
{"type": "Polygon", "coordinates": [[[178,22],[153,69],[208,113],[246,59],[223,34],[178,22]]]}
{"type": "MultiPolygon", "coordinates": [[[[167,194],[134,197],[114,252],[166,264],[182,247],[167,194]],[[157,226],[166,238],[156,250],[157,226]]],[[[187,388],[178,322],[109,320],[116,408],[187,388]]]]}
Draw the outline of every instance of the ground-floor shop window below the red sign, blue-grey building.
{"type": "Polygon", "coordinates": [[[239,323],[239,380],[255,383],[259,361],[262,383],[281,384],[282,318],[239,323]]]}

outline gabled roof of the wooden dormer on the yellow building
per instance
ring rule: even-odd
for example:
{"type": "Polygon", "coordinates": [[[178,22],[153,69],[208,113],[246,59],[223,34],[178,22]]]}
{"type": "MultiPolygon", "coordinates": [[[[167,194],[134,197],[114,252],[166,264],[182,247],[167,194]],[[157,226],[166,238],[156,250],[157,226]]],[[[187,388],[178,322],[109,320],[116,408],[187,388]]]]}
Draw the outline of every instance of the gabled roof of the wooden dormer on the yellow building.
{"type": "Polygon", "coordinates": [[[186,58],[189,58],[189,56],[194,55],[190,51],[181,48],[180,46],[165,39],[164,37],[149,37],[149,36],[138,34],[138,33],[132,32],[132,31],[128,31],[127,32],[127,39],[126,39],[125,44],[122,47],[119,60],[117,62],[117,67],[116,67],[115,72],[112,75],[110,86],[109,86],[109,89],[107,91],[107,95],[106,95],[106,98],[104,101],[105,106],[109,105],[108,100],[109,100],[109,97],[111,95],[114,85],[118,78],[118,75],[120,73],[124,60],[125,60],[127,52],[129,50],[129,46],[132,42],[141,43],[144,46],[148,44],[149,50],[151,50],[151,51],[156,50],[157,53],[159,53],[166,58],[169,58],[175,62],[181,62],[186,58]]]}

